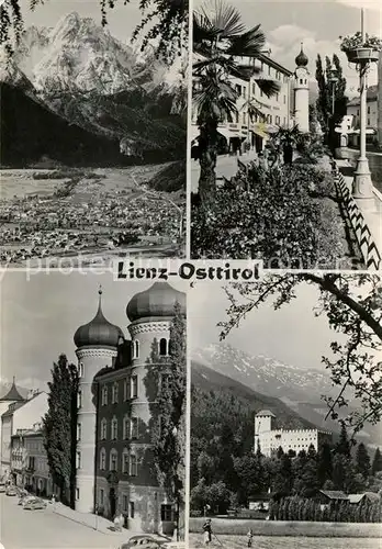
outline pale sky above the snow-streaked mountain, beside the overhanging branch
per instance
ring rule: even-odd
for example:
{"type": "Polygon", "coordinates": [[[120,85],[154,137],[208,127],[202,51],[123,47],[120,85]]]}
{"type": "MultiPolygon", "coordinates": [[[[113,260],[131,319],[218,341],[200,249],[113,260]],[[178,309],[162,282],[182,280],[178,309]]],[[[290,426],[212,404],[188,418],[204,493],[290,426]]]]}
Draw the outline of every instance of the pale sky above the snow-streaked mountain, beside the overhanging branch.
{"type": "MultiPolygon", "coordinates": [[[[330,341],[338,336],[329,329],[326,316],[316,317],[316,288],[301,284],[297,298],[274,311],[271,301],[251,312],[239,328],[225,340],[250,355],[263,355],[301,368],[324,368],[321,357],[328,356],[330,341]]],[[[189,341],[192,349],[218,343],[220,321],[227,320],[229,302],[221,283],[196,282],[189,294],[189,341]]]]}

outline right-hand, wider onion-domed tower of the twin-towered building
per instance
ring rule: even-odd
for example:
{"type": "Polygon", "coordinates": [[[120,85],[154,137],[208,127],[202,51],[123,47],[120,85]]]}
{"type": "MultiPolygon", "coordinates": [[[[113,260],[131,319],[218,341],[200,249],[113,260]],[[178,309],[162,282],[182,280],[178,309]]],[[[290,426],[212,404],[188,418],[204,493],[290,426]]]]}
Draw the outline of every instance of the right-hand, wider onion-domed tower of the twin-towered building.
{"type": "MultiPolygon", "coordinates": [[[[166,371],[176,303],[179,303],[180,312],[186,316],[186,293],[175,290],[167,282],[155,282],[148,290],[134,295],[126,307],[132,337],[131,379],[134,380],[131,390],[131,422],[132,426],[137,425],[136,436],[130,445],[130,452],[134,458],[150,452],[149,429],[154,422],[160,421],[154,412],[156,391],[160,391],[166,371]],[[153,380],[156,380],[156,390],[153,390],[150,381],[153,369],[157,370],[153,377],[153,380]]],[[[162,505],[171,505],[173,502],[169,501],[166,491],[157,485],[151,470],[153,461],[149,462],[147,458],[146,462],[139,462],[137,475],[131,479],[130,498],[136,502],[136,508],[135,518],[130,519],[130,527],[142,530],[145,528],[144,517],[151,516],[155,517],[154,531],[164,533],[165,524],[160,509],[162,505]]]]}

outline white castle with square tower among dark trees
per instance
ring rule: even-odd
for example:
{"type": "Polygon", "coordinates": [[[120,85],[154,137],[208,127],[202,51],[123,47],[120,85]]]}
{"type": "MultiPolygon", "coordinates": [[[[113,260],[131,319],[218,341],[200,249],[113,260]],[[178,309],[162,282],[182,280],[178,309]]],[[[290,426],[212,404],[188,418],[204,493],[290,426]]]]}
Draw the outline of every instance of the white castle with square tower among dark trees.
{"type": "Polygon", "coordinates": [[[318,429],[278,429],[274,428],[276,415],[262,410],[255,416],[255,451],[260,447],[263,456],[270,457],[279,448],[284,453],[293,450],[296,455],[313,445],[318,451],[324,442],[332,442],[332,433],[318,429]]]}

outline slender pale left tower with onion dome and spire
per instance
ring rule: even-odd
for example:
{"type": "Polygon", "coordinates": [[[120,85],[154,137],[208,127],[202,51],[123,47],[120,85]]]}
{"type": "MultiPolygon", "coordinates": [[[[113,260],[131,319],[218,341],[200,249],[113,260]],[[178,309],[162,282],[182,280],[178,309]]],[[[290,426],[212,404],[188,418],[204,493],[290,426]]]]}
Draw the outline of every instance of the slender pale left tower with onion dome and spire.
{"type": "Polygon", "coordinates": [[[94,508],[97,396],[93,394],[93,379],[102,368],[113,366],[117,347],[124,340],[121,328],[103,316],[101,296],[100,289],[94,318],[80,326],[74,337],[79,373],[76,509],[82,513],[92,513],[94,508]]]}

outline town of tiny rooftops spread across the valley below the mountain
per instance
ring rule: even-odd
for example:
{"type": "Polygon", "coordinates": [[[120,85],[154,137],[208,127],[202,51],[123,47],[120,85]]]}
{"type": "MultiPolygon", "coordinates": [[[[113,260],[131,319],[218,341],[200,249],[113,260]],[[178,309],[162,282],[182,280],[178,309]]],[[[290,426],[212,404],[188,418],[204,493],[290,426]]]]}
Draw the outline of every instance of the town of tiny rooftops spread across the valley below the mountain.
{"type": "MultiPolygon", "coordinates": [[[[87,189],[83,190],[83,192],[87,189]]],[[[116,190],[89,198],[31,195],[0,201],[1,262],[175,244],[179,209],[159,193],[116,190]],[[160,203],[160,208],[158,208],[160,203]]]]}

